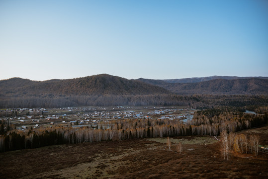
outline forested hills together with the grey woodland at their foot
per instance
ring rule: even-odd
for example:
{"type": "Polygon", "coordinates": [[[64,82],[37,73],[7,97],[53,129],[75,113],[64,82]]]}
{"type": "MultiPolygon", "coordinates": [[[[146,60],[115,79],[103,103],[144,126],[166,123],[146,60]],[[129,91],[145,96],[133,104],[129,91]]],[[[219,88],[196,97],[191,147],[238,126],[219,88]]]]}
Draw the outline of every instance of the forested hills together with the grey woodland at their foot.
{"type": "Polygon", "coordinates": [[[204,108],[267,105],[267,96],[268,80],[255,78],[169,84],[161,80],[127,80],[103,74],[42,82],[20,78],[0,81],[0,108],[81,105],[189,105],[204,108]]]}

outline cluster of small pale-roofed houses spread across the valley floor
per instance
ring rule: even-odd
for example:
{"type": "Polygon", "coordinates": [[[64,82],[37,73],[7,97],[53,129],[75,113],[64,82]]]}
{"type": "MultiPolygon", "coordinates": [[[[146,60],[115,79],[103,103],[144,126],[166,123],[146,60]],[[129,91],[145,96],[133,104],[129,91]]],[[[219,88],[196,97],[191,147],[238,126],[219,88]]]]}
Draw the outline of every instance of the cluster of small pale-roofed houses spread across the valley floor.
{"type": "MultiPolygon", "coordinates": [[[[20,117],[9,117],[12,123],[16,123],[18,129],[27,129],[27,126],[38,128],[40,125],[55,125],[55,124],[72,124],[72,125],[97,125],[98,123],[108,123],[109,120],[114,119],[185,119],[186,116],[179,114],[183,109],[175,107],[165,108],[159,107],[144,107],[149,112],[135,112],[132,107],[66,107],[53,108],[59,114],[47,115],[44,112],[49,112],[46,108],[16,108],[15,111],[27,111],[28,115],[20,117]],[[67,114],[63,114],[66,111],[67,114]],[[31,112],[39,112],[39,115],[33,115],[31,112]],[[42,113],[40,113],[42,112],[42,113]],[[40,115],[42,114],[42,115],[40,115]],[[44,116],[45,115],[45,116],[44,116]],[[22,126],[18,126],[18,125],[22,126]]],[[[9,109],[10,110],[10,109],[9,109]]],[[[186,114],[187,115],[187,114],[186,114]]],[[[191,114],[190,114],[191,115],[191,114]]]]}

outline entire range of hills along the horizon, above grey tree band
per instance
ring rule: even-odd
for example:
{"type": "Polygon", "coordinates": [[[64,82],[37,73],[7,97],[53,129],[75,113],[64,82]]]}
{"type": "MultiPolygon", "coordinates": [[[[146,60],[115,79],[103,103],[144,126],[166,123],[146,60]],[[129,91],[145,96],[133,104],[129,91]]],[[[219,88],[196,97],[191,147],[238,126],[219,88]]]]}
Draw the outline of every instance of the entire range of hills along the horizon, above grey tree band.
{"type": "Polygon", "coordinates": [[[0,81],[0,96],[28,95],[148,95],[148,94],[262,94],[268,95],[268,77],[204,77],[174,80],[127,80],[107,74],[69,80],[0,81]]]}

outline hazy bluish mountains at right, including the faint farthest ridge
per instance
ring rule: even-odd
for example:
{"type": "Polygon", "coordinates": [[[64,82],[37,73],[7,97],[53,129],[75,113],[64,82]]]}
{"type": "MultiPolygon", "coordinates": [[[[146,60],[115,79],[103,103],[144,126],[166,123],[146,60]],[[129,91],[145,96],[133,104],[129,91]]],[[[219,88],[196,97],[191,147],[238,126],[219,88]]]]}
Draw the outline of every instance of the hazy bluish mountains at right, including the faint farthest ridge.
{"type": "Polygon", "coordinates": [[[174,80],[138,79],[177,94],[263,94],[268,95],[268,77],[213,76],[174,80]],[[180,83],[178,83],[180,82],[180,83]]]}

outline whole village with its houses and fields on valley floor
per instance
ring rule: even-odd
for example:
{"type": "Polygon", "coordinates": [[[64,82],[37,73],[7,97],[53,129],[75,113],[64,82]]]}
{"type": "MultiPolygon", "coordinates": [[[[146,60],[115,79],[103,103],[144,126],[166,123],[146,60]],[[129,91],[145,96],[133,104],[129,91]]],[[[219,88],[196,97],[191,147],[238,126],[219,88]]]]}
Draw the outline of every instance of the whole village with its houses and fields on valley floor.
{"type": "Polygon", "coordinates": [[[0,110],[0,120],[17,130],[48,128],[55,125],[108,129],[118,119],[192,119],[194,109],[179,107],[64,107],[9,108],[0,110]]]}

